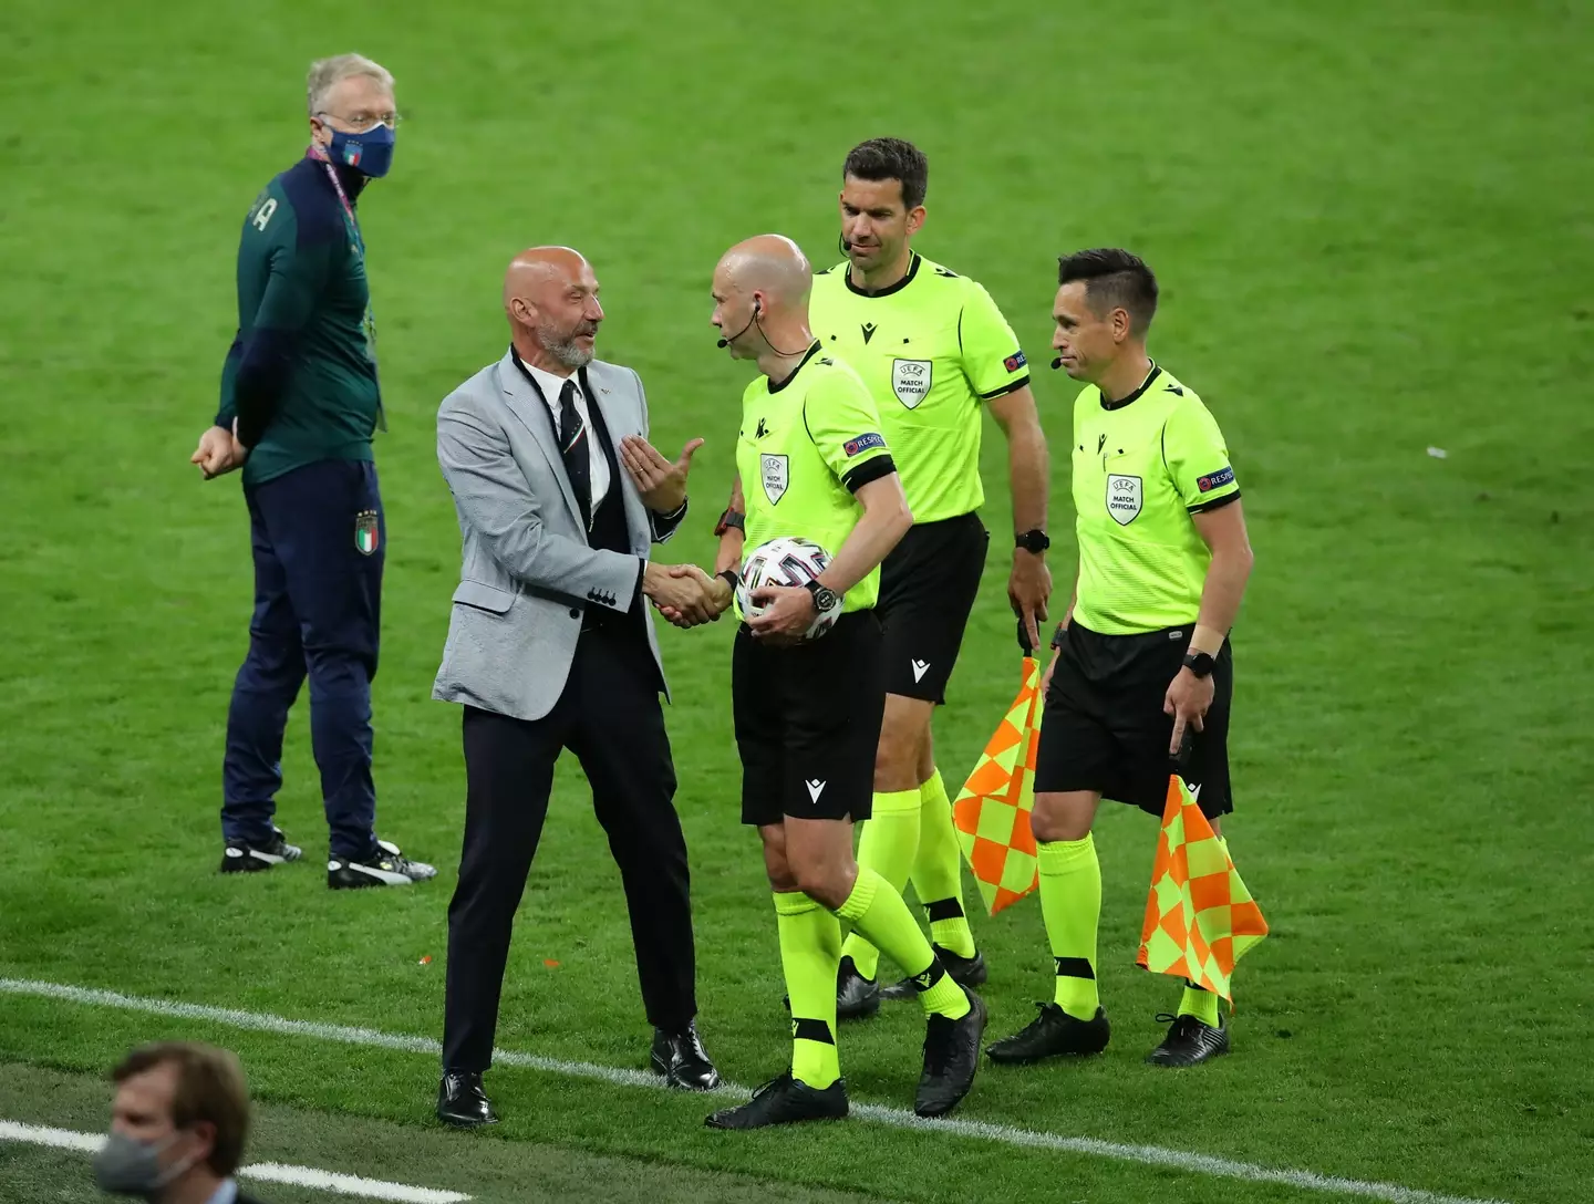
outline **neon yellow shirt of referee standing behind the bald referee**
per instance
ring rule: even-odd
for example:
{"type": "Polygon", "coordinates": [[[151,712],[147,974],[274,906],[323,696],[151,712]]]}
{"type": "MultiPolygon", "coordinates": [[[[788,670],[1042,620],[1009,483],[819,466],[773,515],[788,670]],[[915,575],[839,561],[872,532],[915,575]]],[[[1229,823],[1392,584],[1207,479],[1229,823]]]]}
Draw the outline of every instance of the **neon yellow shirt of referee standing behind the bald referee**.
{"type": "Polygon", "coordinates": [[[917,253],[897,283],[866,293],[840,263],[815,276],[808,322],[874,393],[913,521],[979,510],[980,401],[1030,384],[990,293],[917,253]]]}

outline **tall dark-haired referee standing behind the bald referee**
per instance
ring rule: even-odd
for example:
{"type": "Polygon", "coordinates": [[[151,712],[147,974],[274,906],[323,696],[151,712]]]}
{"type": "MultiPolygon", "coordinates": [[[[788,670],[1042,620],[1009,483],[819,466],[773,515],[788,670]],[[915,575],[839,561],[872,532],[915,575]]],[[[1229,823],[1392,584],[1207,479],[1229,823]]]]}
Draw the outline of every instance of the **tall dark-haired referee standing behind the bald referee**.
{"type": "MultiPolygon", "coordinates": [[[[902,890],[909,879],[947,971],[985,981],[963,911],[963,868],[952,801],[936,769],[931,717],[974,608],[990,537],[980,522],[982,411],[1007,436],[1014,527],[1009,600],[1038,645],[1052,577],[1046,567],[1046,435],[1030,366],[1012,326],[977,282],[926,260],[912,240],[925,225],[929,164],[902,139],[870,139],[842,166],[846,260],[815,277],[813,333],[824,352],[869,385],[880,433],[902,478],[913,527],[880,567],[875,613],[885,632],[886,710],[875,750],[870,819],[858,862],[902,890]]],[[[740,495],[727,518],[735,521],[740,495]]],[[[910,979],[878,986],[880,952],[846,938],[837,975],[842,1019],[885,999],[912,999],[910,979]]],[[[907,967],[904,967],[905,970],[907,967]]]]}

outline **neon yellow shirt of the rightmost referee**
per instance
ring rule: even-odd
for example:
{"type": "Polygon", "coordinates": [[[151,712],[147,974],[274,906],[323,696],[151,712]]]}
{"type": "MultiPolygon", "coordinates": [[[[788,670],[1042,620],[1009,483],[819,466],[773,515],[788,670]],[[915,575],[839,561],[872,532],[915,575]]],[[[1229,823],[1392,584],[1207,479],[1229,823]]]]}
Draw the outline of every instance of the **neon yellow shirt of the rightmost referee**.
{"type": "Polygon", "coordinates": [[[1074,618],[1105,635],[1194,623],[1211,551],[1191,514],[1240,497],[1229,449],[1202,400],[1162,368],[1111,406],[1074,398],[1074,618]]]}

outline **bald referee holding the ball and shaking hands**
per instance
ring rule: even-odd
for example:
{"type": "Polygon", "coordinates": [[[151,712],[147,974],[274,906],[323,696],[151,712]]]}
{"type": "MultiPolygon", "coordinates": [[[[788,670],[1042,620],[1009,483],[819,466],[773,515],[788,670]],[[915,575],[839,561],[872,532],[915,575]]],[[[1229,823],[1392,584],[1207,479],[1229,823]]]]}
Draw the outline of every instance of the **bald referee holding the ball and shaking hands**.
{"type": "MultiPolygon", "coordinates": [[[[759,830],[775,895],[792,1061],[749,1102],[711,1115],[716,1129],[846,1115],[835,1046],[843,922],[910,971],[926,1018],[920,1116],[945,1115],[968,1094],[985,1027],[985,1005],[947,975],[902,895],[853,858],[853,823],[869,819],[885,713],[874,612],[880,562],[913,516],[869,389],[821,354],[808,326],[811,288],[808,260],[779,234],[736,244],[714,269],[720,346],[759,368],[743,393],[736,444],[748,487],[733,510],[744,516],[746,546],[799,537],[830,556],[807,584],[754,589],[757,613],[743,616],[732,651],[741,822],[759,830]],[[835,624],[805,639],[832,607],[840,608],[835,624]]],[[[713,589],[716,613],[732,604],[738,546],[720,545],[714,578],[682,570],[681,580],[713,589]]],[[[701,621],[668,612],[677,623],[701,621]]]]}

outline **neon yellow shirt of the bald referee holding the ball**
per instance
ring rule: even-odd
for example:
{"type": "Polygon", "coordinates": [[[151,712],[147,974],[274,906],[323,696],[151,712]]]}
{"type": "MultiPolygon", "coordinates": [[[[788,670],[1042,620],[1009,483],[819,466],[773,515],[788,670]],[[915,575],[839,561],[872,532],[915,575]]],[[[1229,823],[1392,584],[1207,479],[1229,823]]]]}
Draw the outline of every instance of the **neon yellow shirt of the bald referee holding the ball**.
{"type": "MultiPolygon", "coordinates": [[[[784,381],[760,376],[743,393],[736,471],[748,553],[799,535],[835,556],[864,513],[853,494],[896,465],[869,389],[815,341],[784,381]]],[[[877,567],[846,591],[842,612],[869,610],[878,597],[877,567]]]]}

